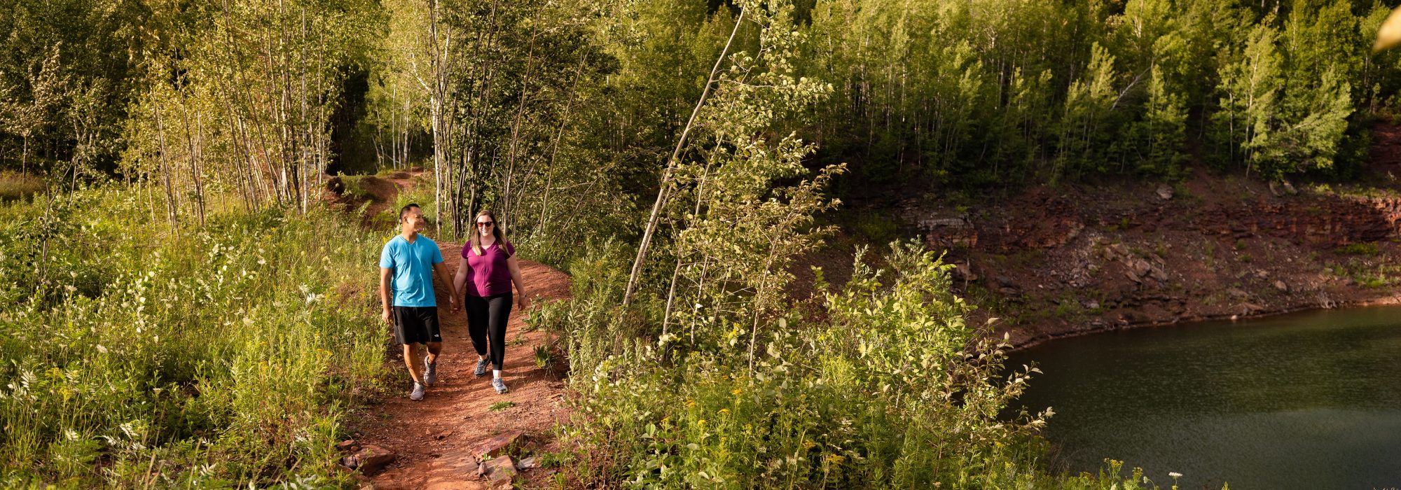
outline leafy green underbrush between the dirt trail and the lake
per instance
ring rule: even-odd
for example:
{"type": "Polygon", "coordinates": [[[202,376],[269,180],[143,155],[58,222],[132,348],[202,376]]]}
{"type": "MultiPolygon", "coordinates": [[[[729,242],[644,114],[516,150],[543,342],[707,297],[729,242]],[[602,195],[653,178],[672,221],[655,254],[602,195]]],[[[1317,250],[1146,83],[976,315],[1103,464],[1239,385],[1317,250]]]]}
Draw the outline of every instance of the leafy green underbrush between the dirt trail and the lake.
{"type": "Polygon", "coordinates": [[[824,314],[773,319],[752,361],[731,312],[692,305],[658,335],[660,304],[622,309],[621,252],[574,260],[573,300],[535,315],[563,336],[577,393],[546,458],[556,487],[1156,489],[1118,462],[1042,469],[1049,410],[1007,412],[1038,371],[1005,368],[1006,344],[948,293],[951,266],[918,245],[884,270],[859,252],[824,314]]]}

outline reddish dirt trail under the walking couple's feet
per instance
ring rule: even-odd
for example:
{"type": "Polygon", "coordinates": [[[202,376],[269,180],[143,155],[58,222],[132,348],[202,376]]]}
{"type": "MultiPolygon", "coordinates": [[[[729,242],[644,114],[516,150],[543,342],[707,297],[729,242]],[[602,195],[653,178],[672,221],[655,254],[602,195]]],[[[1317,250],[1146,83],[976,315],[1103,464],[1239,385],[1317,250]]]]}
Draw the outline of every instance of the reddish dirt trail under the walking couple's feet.
{"type": "MultiPolygon", "coordinates": [[[[450,272],[457,272],[461,245],[439,244],[450,272]]],[[[521,260],[521,279],[535,302],[569,297],[569,276],[548,266],[521,260]]],[[[361,412],[350,421],[360,442],[375,444],[398,454],[385,470],[374,475],[375,489],[489,489],[492,483],[478,473],[481,461],[472,454],[476,442],[510,431],[544,442],[556,421],[566,416],[565,384],[558,375],[535,365],[535,346],[545,343],[545,332],[524,332],[525,312],[511,308],[506,329],[506,365],[502,379],[510,391],[497,395],[490,385],[490,371],[474,377],[476,351],[467,332],[467,316],[453,312],[447,297],[439,291],[439,321],[443,353],[437,360],[439,379],[422,402],[409,400],[408,368],[392,346],[391,370],[405,379],[398,392],[380,405],[361,412]],[[402,392],[402,393],[401,393],[402,392]],[[513,402],[490,412],[497,402],[513,402]]],[[[388,336],[389,328],[384,326],[388,336]]],[[[539,472],[535,469],[534,472],[539,472]]],[[[528,472],[527,472],[528,473],[528,472]]],[[[528,476],[528,475],[523,475],[528,476]]]]}

